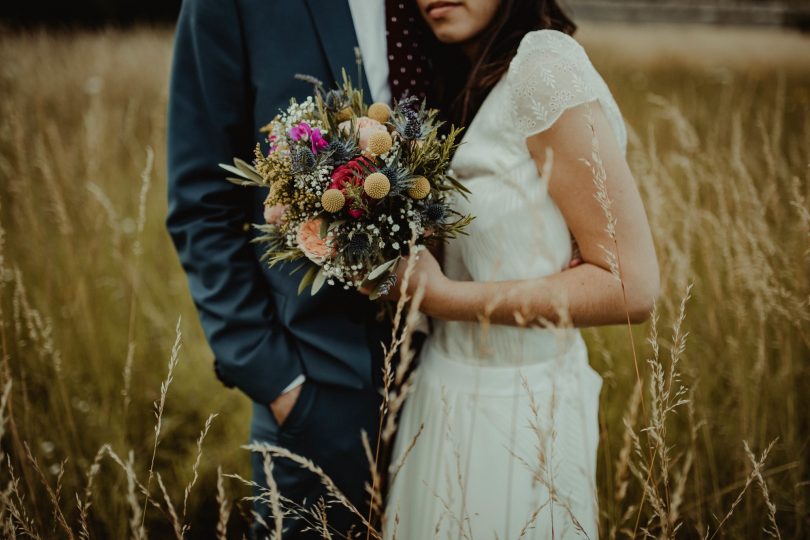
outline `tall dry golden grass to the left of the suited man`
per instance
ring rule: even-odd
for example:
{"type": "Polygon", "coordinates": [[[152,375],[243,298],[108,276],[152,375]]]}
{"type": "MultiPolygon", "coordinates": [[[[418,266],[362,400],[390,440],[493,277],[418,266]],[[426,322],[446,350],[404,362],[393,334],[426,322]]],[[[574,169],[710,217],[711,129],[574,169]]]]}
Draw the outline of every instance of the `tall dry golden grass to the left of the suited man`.
{"type": "MultiPolygon", "coordinates": [[[[161,400],[180,316],[183,349],[153,470],[182,501],[200,429],[210,413],[222,415],[187,504],[190,536],[207,536],[217,522],[209,511],[217,507],[217,466],[248,470],[239,445],[247,441],[249,408],[212,377],[163,225],[170,38],[148,29],[0,38],[0,309],[3,380],[14,384],[3,444],[21,459],[27,442],[49,481],[68,459],[68,508],[102,444],[124,462],[132,450],[133,472],[145,483],[156,444],[153,402],[161,400]]],[[[108,459],[98,466],[88,530],[124,537],[130,480],[108,459]]],[[[48,500],[29,469],[24,459],[15,462],[29,516],[49,536],[48,500]]],[[[129,493],[143,510],[136,488],[129,493]]],[[[227,482],[225,488],[233,489],[227,482]]],[[[159,489],[156,478],[150,489],[159,489]]],[[[75,509],[66,512],[76,517],[75,509]]],[[[146,529],[173,534],[165,517],[146,509],[146,529]]]]}

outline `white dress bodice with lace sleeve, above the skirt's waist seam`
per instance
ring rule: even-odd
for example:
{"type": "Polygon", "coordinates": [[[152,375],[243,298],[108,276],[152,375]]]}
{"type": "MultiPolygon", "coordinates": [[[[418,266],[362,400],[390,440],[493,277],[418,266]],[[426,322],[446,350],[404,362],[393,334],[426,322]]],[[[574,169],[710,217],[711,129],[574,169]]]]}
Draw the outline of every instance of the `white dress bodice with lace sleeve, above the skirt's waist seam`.
{"type": "MultiPolygon", "coordinates": [[[[567,109],[598,102],[622,150],[627,135],[607,85],[570,36],[539,30],[521,41],[509,70],[465,131],[452,167],[470,190],[457,209],[475,216],[445,249],[444,269],[460,281],[540,278],[571,258],[571,236],[538,172],[526,138],[567,109]]],[[[437,321],[428,343],[450,357],[483,364],[542,362],[580,339],[576,330],[437,321]]]]}

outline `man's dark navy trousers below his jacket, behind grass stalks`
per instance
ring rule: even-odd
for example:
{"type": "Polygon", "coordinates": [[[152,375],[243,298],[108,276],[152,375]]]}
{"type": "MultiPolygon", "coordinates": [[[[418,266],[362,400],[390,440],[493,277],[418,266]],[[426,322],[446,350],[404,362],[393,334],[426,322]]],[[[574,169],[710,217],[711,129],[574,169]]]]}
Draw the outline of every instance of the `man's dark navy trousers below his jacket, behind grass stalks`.
{"type": "MultiPolygon", "coordinates": [[[[368,515],[365,486],[370,483],[371,473],[361,433],[368,433],[373,449],[381,400],[380,393],[375,389],[350,389],[307,380],[298,401],[281,426],[269,407],[254,403],[250,440],[283,446],[311,459],[365,516],[368,515]]],[[[262,455],[253,452],[251,463],[254,482],[266,487],[262,455]]],[[[273,459],[273,478],[281,495],[299,504],[311,507],[320,498],[326,499],[320,479],[288,459],[273,459]]],[[[270,506],[256,503],[254,510],[272,529],[270,506]]],[[[341,534],[352,529],[356,533],[365,531],[356,516],[337,503],[329,507],[328,523],[341,534]]],[[[285,517],[283,538],[322,538],[320,534],[308,531],[309,528],[311,524],[305,519],[285,517]]],[[[269,532],[256,523],[253,535],[257,539],[266,538],[269,532]]],[[[362,537],[365,538],[365,534],[362,537]]]]}

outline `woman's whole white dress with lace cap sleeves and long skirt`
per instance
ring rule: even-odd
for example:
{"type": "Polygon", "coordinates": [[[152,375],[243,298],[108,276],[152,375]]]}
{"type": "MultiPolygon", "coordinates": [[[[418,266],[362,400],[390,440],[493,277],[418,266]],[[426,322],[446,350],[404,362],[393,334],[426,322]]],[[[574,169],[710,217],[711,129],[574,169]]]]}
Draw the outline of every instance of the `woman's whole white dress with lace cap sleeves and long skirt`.
{"type": "MultiPolygon", "coordinates": [[[[582,47],[552,30],[523,38],[453,160],[472,192],[460,210],[476,219],[447,247],[450,278],[567,265],[569,231],[525,139],[596,102],[624,150],[619,109],[582,47]]],[[[601,384],[576,329],[436,321],[400,421],[386,537],[596,538],[601,384]]]]}

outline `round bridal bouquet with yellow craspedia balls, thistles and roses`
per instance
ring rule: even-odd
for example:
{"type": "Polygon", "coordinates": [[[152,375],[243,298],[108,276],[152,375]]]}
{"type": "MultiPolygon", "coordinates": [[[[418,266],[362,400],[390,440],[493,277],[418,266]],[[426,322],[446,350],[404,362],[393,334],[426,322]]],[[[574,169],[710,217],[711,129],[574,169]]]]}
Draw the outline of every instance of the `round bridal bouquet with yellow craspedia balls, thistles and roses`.
{"type": "Polygon", "coordinates": [[[415,98],[393,110],[367,106],[345,74],[328,92],[311,82],[313,96],[290,100],[262,129],[266,153],[257,144],[253,164],[221,167],[238,176],[232,182],[270,188],[255,241],[266,243],[271,266],[314,263],[299,294],[340,283],[377,298],[396,283],[412,238],[424,245],[453,237],[472,219],[451,206],[453,193],[466,193],[449,171],[460,130],[440,136],[437,111],[415,98]]]}

